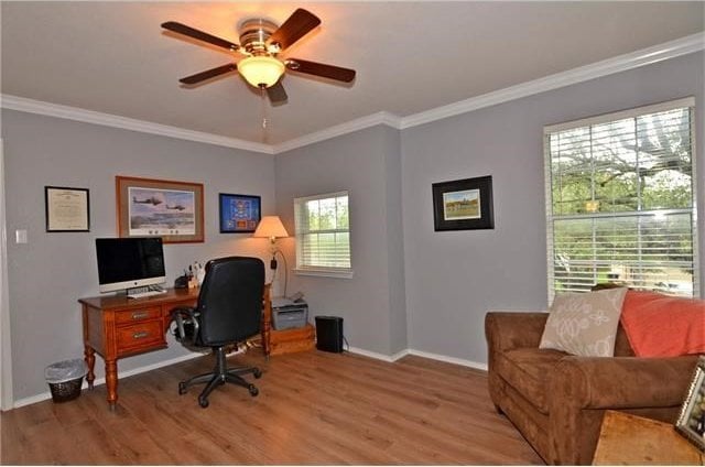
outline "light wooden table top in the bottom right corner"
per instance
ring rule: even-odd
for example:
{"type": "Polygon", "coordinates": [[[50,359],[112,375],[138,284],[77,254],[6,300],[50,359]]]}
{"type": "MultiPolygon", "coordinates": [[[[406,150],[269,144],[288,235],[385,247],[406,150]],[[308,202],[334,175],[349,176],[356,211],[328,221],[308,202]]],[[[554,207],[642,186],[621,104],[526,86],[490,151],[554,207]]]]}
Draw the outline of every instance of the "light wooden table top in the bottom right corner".
{"type": "Polygon", "coordinates": [[[703,465],[705,457],[673,424],[606,411],[593,465],[703,465]]]}

